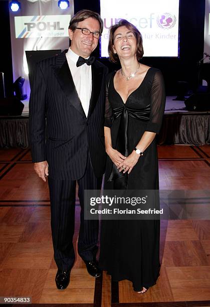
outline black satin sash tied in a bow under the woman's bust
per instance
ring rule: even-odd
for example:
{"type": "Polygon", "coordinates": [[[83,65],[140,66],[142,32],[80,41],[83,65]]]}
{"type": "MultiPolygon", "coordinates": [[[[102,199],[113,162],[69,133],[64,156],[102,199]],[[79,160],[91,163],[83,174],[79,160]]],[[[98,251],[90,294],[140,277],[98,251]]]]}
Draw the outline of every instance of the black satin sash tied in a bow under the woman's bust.
{"type": "MultiPolygon", "coordinates": [[[[117,135],[116,149],[123,156],[128,157],[129,155],[129,147],[128,147],[129,116],[135,119],[141,120],[141,121],[149,121],[150,105],[147,105],[146,107],[142,109],[136,109],[136,108],[127,107],[126,104],[127,103],[125,103],[124,106],[112,109],[112,114],[113,114],[114,120],[118,117],[121,117],[119,129],[118,129],[118,135],[117,135]]],[[[124,180],[121,181],[119,188],[122,188],[122,185],[123,185],[124,189],[126,189],[127,183],[128,183],[128,173],[119,172],[119,170],[117,169],[117,166],[113,164],[112,172],[111,172],[111,175],[108,181],[115,181],[116,179],[119,179],[122,177],[124,177],[124,180]]],[[[116,186],[116,188],[118,187],[116,186]]]]}

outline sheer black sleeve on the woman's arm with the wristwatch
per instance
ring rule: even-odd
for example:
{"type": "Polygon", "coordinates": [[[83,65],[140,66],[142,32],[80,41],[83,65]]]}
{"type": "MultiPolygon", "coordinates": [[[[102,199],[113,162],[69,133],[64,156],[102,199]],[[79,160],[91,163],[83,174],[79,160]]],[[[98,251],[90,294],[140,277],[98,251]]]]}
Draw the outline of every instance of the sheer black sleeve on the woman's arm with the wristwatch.
{"type": "Polygon", "coordinates": [[[162,73],[157,70],[152,80],[151,110],[145,131],[159,133],[165,109],[165,86],[162,73]]]}

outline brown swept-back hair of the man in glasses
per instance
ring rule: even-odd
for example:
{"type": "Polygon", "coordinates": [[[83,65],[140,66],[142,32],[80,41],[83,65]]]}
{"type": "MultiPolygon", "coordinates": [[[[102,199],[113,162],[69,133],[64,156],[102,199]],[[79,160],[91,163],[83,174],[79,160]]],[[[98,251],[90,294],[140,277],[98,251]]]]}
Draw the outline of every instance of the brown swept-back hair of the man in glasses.
{"type": "Polygon", "coordinates": [[[94,18],[99,22],[100,33],[102,33],[103,32],[103,20],[101,19],[100,15],[98,13],[90,11],[90,10],[81,10],[81,11],[77,12],[72,17],[72,19],[70,20],[69,29],[74,31],[77,28],[79,22],[81,22],[85,19],[88,19],[88,18],[94,18]]]}

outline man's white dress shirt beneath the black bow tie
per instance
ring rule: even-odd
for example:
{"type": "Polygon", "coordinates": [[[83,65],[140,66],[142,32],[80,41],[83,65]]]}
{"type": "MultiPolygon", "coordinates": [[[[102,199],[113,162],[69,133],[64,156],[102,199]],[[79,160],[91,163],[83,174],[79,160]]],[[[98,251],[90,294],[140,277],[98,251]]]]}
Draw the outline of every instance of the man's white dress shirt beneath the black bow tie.
{"type": "Polygon", "coordinates": [[[88,116],[88,110],[90,105],[90,97],[92,90],[92,72],[91,65],[87,65],[86,63],[81,65],[80,67],[76,66],[77,60],[79,56],[74,53],[71,48],[69,48],[66,53],[67,62],[69,64],[69,68],[72,74],[72,78],[82,103],[83,110],[85,112],[86,117],[88,116]]]}

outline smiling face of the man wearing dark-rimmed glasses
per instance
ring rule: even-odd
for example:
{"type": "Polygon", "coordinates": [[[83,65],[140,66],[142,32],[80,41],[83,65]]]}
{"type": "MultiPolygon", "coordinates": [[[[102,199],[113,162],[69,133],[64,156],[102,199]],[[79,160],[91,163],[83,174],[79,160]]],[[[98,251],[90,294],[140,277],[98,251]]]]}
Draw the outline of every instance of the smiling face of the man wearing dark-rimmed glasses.
{"type": "MultiPolygon", "coordinates": [[[[100,32],[100,24],[94,18],[87,18],[77,25],[78,28],[85,28],[91,32],[100,32]]],[[[82,34],[82,31],[75,29],[74,31],[69,29],[69,37],[71,40],[71,49],[77,55],[87,58],[96,49],[99,39],[93,37],[93,34],[82,34]]]]}

